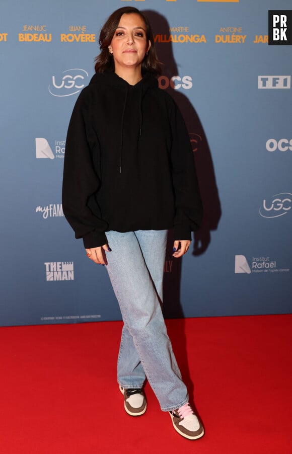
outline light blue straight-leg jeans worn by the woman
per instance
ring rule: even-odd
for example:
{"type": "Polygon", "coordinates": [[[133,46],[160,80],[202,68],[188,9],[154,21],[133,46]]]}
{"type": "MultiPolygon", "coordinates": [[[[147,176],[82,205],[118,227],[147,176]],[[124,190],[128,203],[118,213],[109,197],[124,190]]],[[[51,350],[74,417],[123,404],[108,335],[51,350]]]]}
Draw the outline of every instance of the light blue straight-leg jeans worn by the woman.
{"type": "Polygon", "coordinates": [[[118,383],[142,388],[145,376],[163,411],[188,402],[161,310],[167,231],[106,232],[107,270],[124,322],[118,383]]]}

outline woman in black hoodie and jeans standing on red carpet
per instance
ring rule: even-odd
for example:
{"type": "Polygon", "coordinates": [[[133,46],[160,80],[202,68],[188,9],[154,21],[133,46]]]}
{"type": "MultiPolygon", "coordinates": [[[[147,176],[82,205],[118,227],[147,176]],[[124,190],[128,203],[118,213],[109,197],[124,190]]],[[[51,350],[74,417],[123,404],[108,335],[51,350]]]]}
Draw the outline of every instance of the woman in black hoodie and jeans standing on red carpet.
{"type": "Polygon", "coordinates": [[[147,377],[161,409],[188,439],[203,427],[188,403],[161,311],[168,229],[184,255],[201,219],[189,136],[173,99],[158,88],[149,21],[115,11],[100,33],[96,74],[71,116],[63,211],[87,256],[106,265],[124,322],[118,383],[124,408],[145,413],[147,377]]]}

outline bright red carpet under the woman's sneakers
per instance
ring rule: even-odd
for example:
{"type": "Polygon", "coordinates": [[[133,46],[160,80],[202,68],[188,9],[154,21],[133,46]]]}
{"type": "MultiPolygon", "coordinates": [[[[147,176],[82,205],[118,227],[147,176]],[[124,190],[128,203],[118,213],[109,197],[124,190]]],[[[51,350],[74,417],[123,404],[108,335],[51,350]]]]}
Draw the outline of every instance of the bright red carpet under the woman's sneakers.
{"type": "Polygon", "coordinates": [[[167,321],[205,426],[189,441],[146,387],[148,410],[123,409],[121,322],[0,329],[4,454],[292,452],[292,315],[167,321]]]}

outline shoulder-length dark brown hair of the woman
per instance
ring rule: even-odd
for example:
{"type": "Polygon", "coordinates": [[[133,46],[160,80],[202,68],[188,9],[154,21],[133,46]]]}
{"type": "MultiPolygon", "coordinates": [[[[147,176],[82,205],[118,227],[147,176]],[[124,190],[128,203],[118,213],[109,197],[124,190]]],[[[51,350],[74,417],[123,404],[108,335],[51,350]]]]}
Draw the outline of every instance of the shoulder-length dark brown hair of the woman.
{"type": "Polygon", "coordinates": [[[160,75],[161,66],[157,58],[150,22],[141,11],[133,7],[119,8],[118,10],[114,11],[102,27],[99,35],[99,48],[101,50],[101,53],[95,58],[95,72],[103,72],[105,69],[111,69],[112,71],[114,71],[114,59],[113,56],[109,54],[108,46],[112,42],[114,33],[123,14],[138,14],[145,23],[146,39],[147,42],[151,42],[151,47],[148,51],[148,55],[145,55],[142,61],[142,74],[144,74],[145,72],[151,72],[155,76],[160,75]]]}

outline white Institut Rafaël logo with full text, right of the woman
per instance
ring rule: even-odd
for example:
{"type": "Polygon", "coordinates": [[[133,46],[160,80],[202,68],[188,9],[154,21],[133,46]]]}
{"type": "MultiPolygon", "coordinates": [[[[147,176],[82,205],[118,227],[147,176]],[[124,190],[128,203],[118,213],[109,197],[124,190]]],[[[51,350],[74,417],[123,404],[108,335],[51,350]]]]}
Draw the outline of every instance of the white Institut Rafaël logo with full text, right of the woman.
{"type": "Polygon", "coordinates": [[[283,268],[278,263],[278,260],[270,257],[251,257],[249,260],[245,255],[235,256],[235,274],[238,273],[287,273],[289,268],[283,268]]]}

